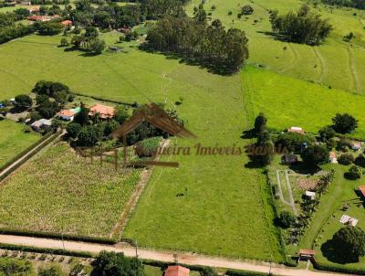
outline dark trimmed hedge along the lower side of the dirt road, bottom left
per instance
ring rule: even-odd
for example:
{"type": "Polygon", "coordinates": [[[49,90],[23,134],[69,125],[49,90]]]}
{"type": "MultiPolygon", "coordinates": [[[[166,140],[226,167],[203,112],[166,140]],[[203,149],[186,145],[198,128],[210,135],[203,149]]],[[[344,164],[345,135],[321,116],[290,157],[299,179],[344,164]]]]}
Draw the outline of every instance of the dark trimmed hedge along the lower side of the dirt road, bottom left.
{"type": "Polygon", "coordinates": [[[0,243],[0,249],[13,250],[13,251],[26,251],[26,252],[34,252],[34,253],[45,253],[45,254],[53,254],[53,255],[64,255],[64,256],[72,256],[72,257],[80,257],[80,258],[94,258],[95,255],[89,252],[82,251],[70,251],[64,249],[39,249],[35,247],[29,246],[19,246],[12,245],[7,243],[0,243]]]}

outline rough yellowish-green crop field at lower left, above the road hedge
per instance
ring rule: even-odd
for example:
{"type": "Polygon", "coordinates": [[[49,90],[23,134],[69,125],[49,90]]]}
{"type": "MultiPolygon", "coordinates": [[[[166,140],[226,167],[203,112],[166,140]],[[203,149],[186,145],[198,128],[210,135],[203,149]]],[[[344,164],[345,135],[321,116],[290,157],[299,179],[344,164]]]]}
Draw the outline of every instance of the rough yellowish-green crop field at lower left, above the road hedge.
{"type": "Polygon", "coordinates": [[[57,143],[2,183],[0,227],[109,237],[139,179],[57,143]]]}

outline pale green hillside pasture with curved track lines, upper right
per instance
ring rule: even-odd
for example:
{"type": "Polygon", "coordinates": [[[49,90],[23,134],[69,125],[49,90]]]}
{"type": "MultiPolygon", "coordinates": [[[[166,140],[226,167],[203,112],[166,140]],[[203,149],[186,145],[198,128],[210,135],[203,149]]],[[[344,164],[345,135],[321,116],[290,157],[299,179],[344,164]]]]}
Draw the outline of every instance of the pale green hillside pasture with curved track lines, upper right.
{"type": "MultiPolygon", "coordinates": [[[[188,6],[192,14],[193,6],[199,5],[200,0],[193,0],[188,6]]],[[[324,83],[341,90],[365,92],[364,56],[365,11],[349,8],[331,9],[318,5],[317,12],[328,18],[334,27],[328,40],[319,47],[309,47],[295,43],[285,43],[275,40],[268,34],[271,25],[268,11],[277,9],[280,14],[289,10],[297,10],[303,4],[300,0],[210,0],[205,9],[212,13],[213,18],[219,18],[226,27],[238,27],[245,30],[249,38],[250,58],[254,64],[262,64],[266,69],[282,72],[302,80],[312,80],[324,83]],[[216,9],[211,10],[215,5],[216,9]],[[243,5],[252,5],[255,9],[251,16],[237,18],[243,5]],[[228,16],[232,11],[233,15],[228,16]],[[357,16],[353,16],[353,13],[357,16]],[[257,22],[255,23],[255,20],[257,22]],[[356,38],[351,43],[343,42],[343,37],[353,32],[356,38]],[[351,46],[352,45],[352,46],[351,46]],[[284,51],[283,48],[287,47],[284,51]],[[349,49],[354,56],[349,55],[349,49]],[[358,79],[358,80],[357,80],[358,79]]]]}

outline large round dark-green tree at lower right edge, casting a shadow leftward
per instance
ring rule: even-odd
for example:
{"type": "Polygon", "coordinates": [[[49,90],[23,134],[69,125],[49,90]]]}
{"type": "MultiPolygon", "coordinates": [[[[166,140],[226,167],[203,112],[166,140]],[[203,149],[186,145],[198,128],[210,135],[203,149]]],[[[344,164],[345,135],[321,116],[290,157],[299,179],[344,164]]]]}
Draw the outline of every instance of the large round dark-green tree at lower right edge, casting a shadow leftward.
{"type": "Polygon", "coordinates": [[[365,232],[357,227],[340,228],[332,238],[335,248],[354,258],[365,256],[365,232]]]}

